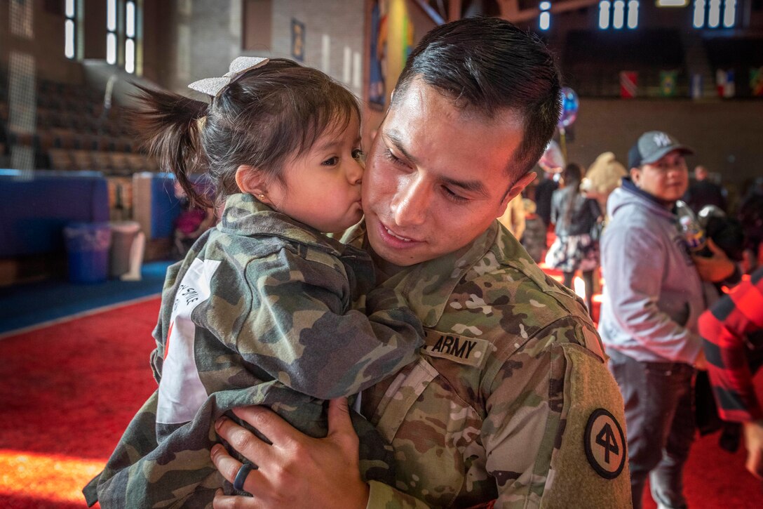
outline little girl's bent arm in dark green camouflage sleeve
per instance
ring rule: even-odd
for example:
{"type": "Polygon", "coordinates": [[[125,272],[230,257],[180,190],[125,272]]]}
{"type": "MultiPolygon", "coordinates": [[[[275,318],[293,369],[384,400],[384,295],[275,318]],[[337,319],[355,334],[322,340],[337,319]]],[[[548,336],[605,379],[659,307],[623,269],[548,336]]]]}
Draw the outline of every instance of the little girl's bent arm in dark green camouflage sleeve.
{"type": "Polygon", "coordinates": [[[230,331],[221,339],[295,391],[320,399],[355,394],[417,358],[420,321],[395,293],[369,294],[367,315],[347,310],[343,272],[287,250],[250,264],[242,277],[249,306],[236,326],[218,329],[230,331]]]}

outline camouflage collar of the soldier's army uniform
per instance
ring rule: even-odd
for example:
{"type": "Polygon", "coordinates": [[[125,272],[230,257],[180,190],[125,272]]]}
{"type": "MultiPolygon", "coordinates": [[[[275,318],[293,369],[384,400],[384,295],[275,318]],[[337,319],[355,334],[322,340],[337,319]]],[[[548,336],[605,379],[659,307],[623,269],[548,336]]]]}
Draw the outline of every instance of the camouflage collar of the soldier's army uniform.
{"type": "MultiPolygon", "coordinates": [[[[458,251],[405,267],[382,285],[402,293],[423,326],[433,327],[443,316],[445,306],[459,281],[494,244],[497,232],[498,222],[494,221],[485,232],[458,251]]],[[[356,246],[364,238],[365,222],[356,225],[343,236],[345,242],[356,246]]],[[[368,246],[364,247],[369,249],[368,246]]]]}

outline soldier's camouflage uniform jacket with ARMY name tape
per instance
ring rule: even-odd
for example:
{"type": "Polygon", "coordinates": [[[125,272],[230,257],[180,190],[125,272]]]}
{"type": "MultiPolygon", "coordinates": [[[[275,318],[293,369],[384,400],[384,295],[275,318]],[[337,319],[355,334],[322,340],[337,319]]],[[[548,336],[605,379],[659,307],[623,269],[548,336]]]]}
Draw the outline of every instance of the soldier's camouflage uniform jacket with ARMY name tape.
{"type": "Polygon", "coordinates": [[[630,507],[623,400],[596,329],[515,238],[494,222],[383,286],[422,320],[425,355],[363,393],[397,460],[396,489],[371,482],[369,507],[630,507]]]}

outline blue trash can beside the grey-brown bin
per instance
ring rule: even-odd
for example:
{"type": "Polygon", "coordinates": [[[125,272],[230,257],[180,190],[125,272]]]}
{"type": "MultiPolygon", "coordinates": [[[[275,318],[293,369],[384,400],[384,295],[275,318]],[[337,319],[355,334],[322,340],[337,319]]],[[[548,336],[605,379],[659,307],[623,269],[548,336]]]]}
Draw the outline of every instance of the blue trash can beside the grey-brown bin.
{"type": "Polygon", "coordinates": [[[76,222],[63,229],[69,254],[69,281],[100,283],[108,274],[108,222],[76,222]]]}

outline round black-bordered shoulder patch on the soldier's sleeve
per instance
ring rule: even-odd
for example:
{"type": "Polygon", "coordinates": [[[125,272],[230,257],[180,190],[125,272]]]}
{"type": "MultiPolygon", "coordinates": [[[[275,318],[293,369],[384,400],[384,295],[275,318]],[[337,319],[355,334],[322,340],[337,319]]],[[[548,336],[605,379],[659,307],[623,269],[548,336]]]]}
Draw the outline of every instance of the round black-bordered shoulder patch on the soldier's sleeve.
{"type": "Polygon", "coordinates": [[[617,419],[604,408],[597,408],[588,417],[583,436],[585,456],[596,473],[613,479],[625,466],[625,433],[617,419]]]}

